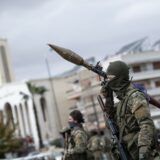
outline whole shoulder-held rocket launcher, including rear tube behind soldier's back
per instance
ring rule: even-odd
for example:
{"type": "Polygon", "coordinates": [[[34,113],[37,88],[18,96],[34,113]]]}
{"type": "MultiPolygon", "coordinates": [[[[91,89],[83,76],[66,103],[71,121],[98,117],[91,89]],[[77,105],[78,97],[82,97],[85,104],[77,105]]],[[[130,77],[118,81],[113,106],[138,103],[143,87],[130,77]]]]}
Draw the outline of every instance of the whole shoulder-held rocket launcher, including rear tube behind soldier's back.
{"type": "MultiPolygon", "coordinates": [[[[53,45],[53,44],[48,44],[48,45],[49,45],[49,47],[51,47],[54,51],[56,51],[65,60],[67,60],[71,63],[74,63],[76,65],[81,65],[81,66],[95,72],[99,76],[103,77],[104,80],[101,84],[102,85],[106,84],[107,74],[106,74],[106,72],[103,71],[103,68],[99,64],[99,62],[97,62],[97,64],[95,66],[93,66],[92,64],[88,64],[87,61],[85,61],[81,56],[79,56],[78,54],[76,54],[72,50],[62,48],[62,47],[59,47],[59,46],[56,46],[56,45],[53,45]]],[[[139,89],[139,88],[136,88],[136,89],[139,89]]],[[[160,102],[159,101],[157,101],[156,99],[154,99],[153,97],[151,97],[147,93],[145,93],[145,95],[146,95],[146,97],[149,97],[149,103],[150,104],[153,104],[157,108],[160,108],[160,102]]]]}

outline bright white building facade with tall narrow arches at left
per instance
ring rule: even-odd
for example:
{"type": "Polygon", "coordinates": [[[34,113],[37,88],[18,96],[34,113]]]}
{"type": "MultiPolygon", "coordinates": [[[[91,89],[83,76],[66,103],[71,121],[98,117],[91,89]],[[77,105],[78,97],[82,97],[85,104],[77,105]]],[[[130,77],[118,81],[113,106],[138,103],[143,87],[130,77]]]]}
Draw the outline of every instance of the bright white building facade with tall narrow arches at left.
{"type": "Polygon", "coordinates": [[[0,110],[3,116],[11,116],[13,124],[17,124],[18,137],[31,136],[38,148],[39,140],[33,110],[31,94],[25,83],[10,83],[0,87],[0,110]],[[21,93],[28,95],[24,99],[21,93]]]}

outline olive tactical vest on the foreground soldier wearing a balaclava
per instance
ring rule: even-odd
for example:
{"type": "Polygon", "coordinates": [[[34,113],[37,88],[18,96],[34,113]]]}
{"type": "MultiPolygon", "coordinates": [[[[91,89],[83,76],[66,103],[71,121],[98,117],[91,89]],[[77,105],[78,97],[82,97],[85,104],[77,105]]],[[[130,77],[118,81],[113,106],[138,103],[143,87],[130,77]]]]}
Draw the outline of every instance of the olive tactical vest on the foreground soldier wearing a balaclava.
{"type": "MultiPolygon", "coordinates": [[[[139,125],[137,123],[136,118],[134,117],[133,113],[131,112],[128,106],[128,100],[133,93],[140,92],[138,89],[130,90],[124,100],[119,102],[117,106],[117,125],[119,128],[119,139],[123,142],[128,151],[130,151],[130,155],[133,159],[136,158],[138,154],[138,134],[140,131],[139,125]]],[[[140,92],[139,94],[143,94],[140,92]]],[[[143,94],[144,95],[144,94],[143,94]]],[[[144,95],[145,97],[145,95],[144,95]]],[[[152,150],[153,159],[160,160],[160,155],[156,151],[156,149],[152,150]]]]}

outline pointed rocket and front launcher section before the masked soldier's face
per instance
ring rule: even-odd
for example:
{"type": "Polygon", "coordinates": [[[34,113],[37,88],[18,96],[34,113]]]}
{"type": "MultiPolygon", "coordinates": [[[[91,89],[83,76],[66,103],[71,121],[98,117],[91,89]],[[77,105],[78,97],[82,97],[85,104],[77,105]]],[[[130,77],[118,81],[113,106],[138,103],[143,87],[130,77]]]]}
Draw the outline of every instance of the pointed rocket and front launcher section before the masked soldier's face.
{"type": "Polygon", "coordinates": [[[67,61],[72,62],[76,65],[84,66],[85,68],[92,70],[98,75],[104,77],[104,79],[107,78],[107,75],[103,71],[102,66],[99,65],[99,62],[97,63],[96,66],[93,66],[92,64],[88,64],[88,62],[86,62],[81,56],[79,56],[78,54],[76,54],[70,49],[62,48],[53,44],[48,44],[48,45],[67,61]]]}

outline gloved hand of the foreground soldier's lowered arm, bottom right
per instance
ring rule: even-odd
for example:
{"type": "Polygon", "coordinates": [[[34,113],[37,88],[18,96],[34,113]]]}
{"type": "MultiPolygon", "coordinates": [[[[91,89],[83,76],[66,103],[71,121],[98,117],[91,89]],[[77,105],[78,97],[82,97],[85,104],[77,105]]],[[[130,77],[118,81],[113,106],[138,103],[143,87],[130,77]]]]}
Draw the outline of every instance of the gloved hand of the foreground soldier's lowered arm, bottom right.
{"type": "Polygon", "coordinates": [[[149,159],[149,147],[148,146],[141,146],[139,148],[139,160],[147,160],[149,159]]]}

